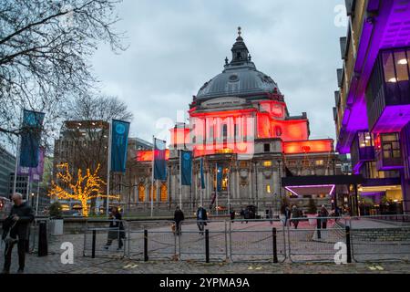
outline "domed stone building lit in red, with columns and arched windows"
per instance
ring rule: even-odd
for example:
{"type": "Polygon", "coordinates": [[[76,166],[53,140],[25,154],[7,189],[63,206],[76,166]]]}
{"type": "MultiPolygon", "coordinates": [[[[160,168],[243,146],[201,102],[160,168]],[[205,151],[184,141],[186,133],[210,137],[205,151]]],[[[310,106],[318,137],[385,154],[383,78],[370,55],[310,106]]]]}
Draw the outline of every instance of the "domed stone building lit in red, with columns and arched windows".
{"type": "MultiPolygon", "coordinates": [[[[189,115],[189,124],[177,123],[170,130],[168,179],[154,185],[155,208],[170,211],[181,200],[183,210],[203,204],[212,213],[222,213],[230,206],[239,211],[255,205],[264,213],[270,208],[279,212],[286,197],[301,207],[311,197],[318,203],[330,203],[330,189],[314,193],[310,188],[309,193],[282,188],[281,178],[286,175],[334,174],[333,140],[309,140],[306,113],[290,116],[278,84],[252,62],[241,29],[231,48],[231,61],[227,57],[223,71],[199,89],[189,115]],[[181,191],[180,150],[190,150],[194,157],[192,185],[181,191]],[[220,172],[221,185],[217,186],[220,172]]],[[[134,199],[138,210],[150,205],[151,157],[149,151],[137,153],[134,199]]]]}

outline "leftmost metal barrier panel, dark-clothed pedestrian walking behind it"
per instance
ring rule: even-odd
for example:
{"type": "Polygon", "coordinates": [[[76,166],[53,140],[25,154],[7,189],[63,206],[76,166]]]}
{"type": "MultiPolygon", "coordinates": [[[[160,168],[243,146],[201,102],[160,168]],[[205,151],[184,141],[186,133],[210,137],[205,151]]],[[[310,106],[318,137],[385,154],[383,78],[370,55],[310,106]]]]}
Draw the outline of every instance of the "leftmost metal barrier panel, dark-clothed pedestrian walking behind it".
{"type": "Polygon", "coordinates": [[[83,255],[95,257],[121,258],[126,255],[128,241],[125,240],[124,220],[87,221],[84,228],[83,255]],[[117,227],[109,227],[113,223],[117,227]],[[120,227],[124,226],[124,229],[120,227]],[[122,243],[122,245],[120,244],[122,243]]]}

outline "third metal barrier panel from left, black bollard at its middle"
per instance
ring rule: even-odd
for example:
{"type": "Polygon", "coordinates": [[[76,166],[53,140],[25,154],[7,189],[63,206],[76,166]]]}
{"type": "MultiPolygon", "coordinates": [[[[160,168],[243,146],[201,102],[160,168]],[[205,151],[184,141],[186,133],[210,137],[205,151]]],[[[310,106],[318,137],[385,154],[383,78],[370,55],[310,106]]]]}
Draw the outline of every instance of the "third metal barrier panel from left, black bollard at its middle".
{"type": "Polygon", "coordinates": [[[179,258],[181,260],[226,261],[228,259],[228,231],[224,220],[203,221],[200,231],[198,221],[180,223],[179,258]],[[206,225],[205,225],[206,224],[206,225]]]}

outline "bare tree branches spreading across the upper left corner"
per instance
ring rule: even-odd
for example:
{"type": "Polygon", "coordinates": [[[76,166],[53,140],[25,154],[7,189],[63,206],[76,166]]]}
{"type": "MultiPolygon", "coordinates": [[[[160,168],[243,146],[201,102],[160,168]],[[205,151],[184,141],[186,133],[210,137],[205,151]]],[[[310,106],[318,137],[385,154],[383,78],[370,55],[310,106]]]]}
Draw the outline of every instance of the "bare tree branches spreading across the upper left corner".
{"type": "Polygon", "coordinates": [[[17,133],[23,108],[46,112],[55,133],[61,105],[95,89],[89,58],[100,42],[114,52],[121,0],[0,1],[0,132],[17,133]]]}

